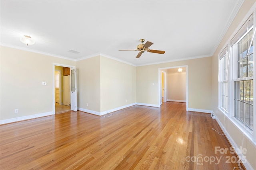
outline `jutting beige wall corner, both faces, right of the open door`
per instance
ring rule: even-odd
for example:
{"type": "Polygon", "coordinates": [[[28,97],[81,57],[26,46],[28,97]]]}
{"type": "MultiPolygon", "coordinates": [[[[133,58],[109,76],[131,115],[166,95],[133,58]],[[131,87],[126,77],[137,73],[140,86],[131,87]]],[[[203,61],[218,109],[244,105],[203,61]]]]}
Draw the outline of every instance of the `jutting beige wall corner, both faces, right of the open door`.
{"type": "Polygon", "coordinates": [[[80,110],[101,115],[135,104],[135,66],[97,56],[77,61],[77,72],[80,110]]]}

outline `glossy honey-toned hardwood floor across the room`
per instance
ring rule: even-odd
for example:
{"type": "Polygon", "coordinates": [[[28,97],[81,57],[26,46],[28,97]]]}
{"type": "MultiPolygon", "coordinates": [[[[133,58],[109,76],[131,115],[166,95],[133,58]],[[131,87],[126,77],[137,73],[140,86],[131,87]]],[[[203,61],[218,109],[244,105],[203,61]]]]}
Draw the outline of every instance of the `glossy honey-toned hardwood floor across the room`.
{"type": "Polygon", "coordinates": [[[185,103],[132,106],[110,117],[82,111],[0,126],[0,169],[220,169],[231,152],[207,113],[186,111],[185,103]]]}

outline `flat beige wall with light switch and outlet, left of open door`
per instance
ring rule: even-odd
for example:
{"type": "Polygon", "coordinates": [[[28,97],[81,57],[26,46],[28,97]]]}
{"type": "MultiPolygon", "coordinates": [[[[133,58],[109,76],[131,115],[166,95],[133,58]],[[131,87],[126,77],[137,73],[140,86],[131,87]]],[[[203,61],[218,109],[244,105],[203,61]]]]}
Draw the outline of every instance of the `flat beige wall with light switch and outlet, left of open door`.
{"type": "Polygon", "coordinates": [[[53,112],[53,63],[76,65],[74,61],[3,46],[0,61],[0,120],[53,112]],[[19,112],[14,113],[14,109],[19,112]]]}

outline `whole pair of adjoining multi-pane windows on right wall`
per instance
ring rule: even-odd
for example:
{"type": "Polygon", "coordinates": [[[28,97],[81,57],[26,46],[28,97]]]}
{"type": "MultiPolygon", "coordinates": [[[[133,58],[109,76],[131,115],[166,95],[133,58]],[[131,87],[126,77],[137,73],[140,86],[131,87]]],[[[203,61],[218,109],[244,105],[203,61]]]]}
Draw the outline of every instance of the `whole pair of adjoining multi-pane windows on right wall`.
{"type": "Polygon", "coordinates": [[[253,20],[252,14],[219,54],[219,108],[255,138],[253,20]]]}

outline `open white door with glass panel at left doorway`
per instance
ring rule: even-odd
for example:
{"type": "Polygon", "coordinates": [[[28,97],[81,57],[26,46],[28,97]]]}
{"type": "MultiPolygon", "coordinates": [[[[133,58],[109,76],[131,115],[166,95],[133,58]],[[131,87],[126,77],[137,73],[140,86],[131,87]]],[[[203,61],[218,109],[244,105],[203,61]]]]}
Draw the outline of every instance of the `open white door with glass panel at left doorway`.
{"type": "Polygon", "coordinates": [[[71,76],[71,110],[77,111],[77,103],[76,103],[76,67],[70,68],[70,76],[71,76]]]}

